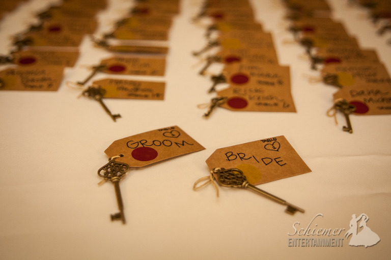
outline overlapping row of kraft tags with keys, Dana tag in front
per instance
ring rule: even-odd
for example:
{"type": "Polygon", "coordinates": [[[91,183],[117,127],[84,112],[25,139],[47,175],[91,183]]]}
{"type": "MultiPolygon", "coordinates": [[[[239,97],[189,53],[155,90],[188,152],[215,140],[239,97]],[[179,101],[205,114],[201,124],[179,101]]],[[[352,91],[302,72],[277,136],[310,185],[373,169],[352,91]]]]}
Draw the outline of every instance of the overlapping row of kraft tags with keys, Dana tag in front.
{"type": "MultiPolygon", "coordinates": [[[[337,91],[333,94],[335,115],[340,110],[347,119],[344,131],[353,132],[349,114],[373,115],[391,113],[391,79],[375,50],[362,49],[345,30],[342,22],[331,18],[325,0],[286,1],[289,31],[301,44],[311,61],[311,68],[320,70],[320,78],[337,91]]],[[[330,105],[331,106],[331,105],[330,105]]]]}

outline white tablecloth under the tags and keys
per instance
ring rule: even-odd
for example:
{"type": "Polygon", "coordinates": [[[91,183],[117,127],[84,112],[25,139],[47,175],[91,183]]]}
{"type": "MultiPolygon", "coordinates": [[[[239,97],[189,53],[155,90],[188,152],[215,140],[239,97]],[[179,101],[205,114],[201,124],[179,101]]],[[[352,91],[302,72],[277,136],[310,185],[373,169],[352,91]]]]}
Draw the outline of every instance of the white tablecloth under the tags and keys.
{"type": "MultiPolygon", "coordinates": [[[[77,99],[79,92],[65,84],[85,78],[85,66],[110,55],[92,47],[88,37],[58,92],[0,92],[0,258],[389,259],[391,116],[352,115],[354,133],[343,132],[341,114],[338,126],[326,116],[336,89],[309,83],[303,74],[317,72],[300,57],[303,49],[284,44],[292,36],[282,21],[283,6],[253,2],[257,19],[273,34],[280,64],[291,68],[297,113],[219,108],[210,119],[202,118],[205,110],[197,105],[212,97],[206,93],[211,83],[198,75],[202,65],[190,54],[206,42],[205,29],[190,22],[201,0],[182,1],[164,77],[116,76],[165,80],[165,100],[105,100],[122,115],[116,123],[97,102],[77,99]],[[127,223],[111,222],[109,214],[117,212],[114,187],[97,185],[97,169],[107,161],[103,151],[114,140],[172,125],[206,150],[131,170],[121,182],[127,223]],[[212,186],[192,190],[197,179],[209,174],[205,160],[215,149],[278,135],[288,139],[312,172],[260,188],[304,208],[304,214],[288,215],[283,206],[246,190],[220,189],[219,197],[212,186]],[[322,214],[313,223],[317,228],[348,230],[351,215],[361,213],[381,239],[375,246],[352,247],[346,238],[342,247],[288,246],[295,222],[304,228],[322,214]]],[[[329,2],[334,18],[344,22],[360,46],[375,48],[390,71],[390,34],[378,37],[366,12],[347,1],[329,2]]],[[[3,53],[9,36],[29,24],[32,11],[45,3],[29,2],[0,24],[3,53]]],[[[122,5],[113,1],[100,22],[115,21],[125,13],[122,5]]]]}

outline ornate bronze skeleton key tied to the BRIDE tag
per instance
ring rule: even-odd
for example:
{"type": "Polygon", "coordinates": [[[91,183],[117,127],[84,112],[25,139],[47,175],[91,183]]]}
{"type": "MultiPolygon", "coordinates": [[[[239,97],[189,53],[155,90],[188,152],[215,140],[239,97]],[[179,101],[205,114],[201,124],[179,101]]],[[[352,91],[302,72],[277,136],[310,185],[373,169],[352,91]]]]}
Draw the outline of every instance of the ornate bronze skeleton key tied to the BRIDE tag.
{"type": "Polygon", "coordinates": [[[280,203],[282,205],[286,205],[287,209],[285,212],[289,214],[295,214],[296,211],[300,211],[304,213],[304,210],[296,207],[290,203],[288,203],[286,200],[279,198],[277,196],[274,196],[270,194],[269,192],[266,192],[264,190],[261,190],[257,188],[254,185],[251,185],[248,183],[246,177],[243,175],[243,172],[236,168],[231,169],[225,169],[225,168],[214,168],[212,170],[212,173],[215,174],[216,181],[219,185],[224,187],[230,187],[230,188],[242,188],[242,189],[250,189],[252,191],[257,192],[258,194],[261,194],[271,200],[274,200],[277,203],[280,203]]]}

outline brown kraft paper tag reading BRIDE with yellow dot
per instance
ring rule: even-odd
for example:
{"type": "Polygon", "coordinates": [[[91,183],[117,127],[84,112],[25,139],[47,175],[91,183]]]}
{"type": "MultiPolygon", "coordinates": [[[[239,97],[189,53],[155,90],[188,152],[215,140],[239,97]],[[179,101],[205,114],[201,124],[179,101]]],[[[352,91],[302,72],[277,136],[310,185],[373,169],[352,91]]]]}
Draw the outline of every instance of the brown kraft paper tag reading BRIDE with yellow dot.
{"type": "Polygon", "coordinates": [[[283,135],[217,149],[206,164],[210,170],[238,168],[252,185],[311,172],[283,135]]]}

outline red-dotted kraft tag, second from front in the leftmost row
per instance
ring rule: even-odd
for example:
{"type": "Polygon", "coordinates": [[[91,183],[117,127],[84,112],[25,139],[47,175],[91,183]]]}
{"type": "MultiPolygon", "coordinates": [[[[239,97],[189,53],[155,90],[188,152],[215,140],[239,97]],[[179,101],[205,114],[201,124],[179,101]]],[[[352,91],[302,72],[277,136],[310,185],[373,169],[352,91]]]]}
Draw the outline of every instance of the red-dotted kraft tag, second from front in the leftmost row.
{"type": "Polygon", "coordinates": [[[23,50],[14,52],[15,64],[19,66],[62,66],[73,67],[79,56],[78,51],[23,50]]]}

